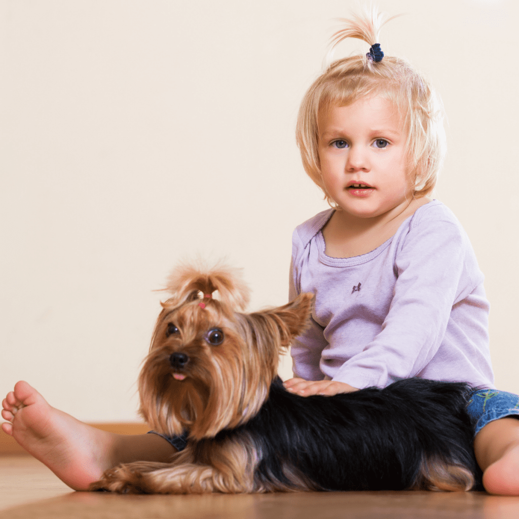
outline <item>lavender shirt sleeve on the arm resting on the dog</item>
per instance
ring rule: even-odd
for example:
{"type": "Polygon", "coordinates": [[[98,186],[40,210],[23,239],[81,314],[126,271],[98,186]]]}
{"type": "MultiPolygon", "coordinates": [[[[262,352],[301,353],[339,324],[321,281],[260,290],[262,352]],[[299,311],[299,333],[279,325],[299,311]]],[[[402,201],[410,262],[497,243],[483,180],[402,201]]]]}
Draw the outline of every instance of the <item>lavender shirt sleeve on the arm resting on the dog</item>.
{"type": "Polygon", "coordinates": [[[393,265],[397,281],[381,331],[333,380],[385,387],[415,376],[438,352],[453,305],[474,289],[464,268],[471,245],[456,223],[418,222],[399,247],[393,265]]]}

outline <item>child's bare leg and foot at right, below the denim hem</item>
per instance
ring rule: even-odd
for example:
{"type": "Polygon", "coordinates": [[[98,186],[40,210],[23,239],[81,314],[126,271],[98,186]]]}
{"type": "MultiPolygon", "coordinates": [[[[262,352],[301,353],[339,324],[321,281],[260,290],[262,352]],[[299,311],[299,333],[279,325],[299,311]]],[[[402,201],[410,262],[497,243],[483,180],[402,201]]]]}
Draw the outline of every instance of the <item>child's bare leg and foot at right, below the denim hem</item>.
{"type": "Polygon", "coordinates": [[[519,419],[489,422],[476,434],[474,452],[487,492],[519,495],[519,419]]]}

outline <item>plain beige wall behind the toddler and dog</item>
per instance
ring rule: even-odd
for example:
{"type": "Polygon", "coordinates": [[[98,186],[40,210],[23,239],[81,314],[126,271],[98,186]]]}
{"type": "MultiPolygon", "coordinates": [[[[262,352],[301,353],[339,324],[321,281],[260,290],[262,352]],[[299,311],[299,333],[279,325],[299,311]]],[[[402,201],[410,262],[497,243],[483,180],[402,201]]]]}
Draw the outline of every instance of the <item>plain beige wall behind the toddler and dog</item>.
{"type": "MultiPolygon", "coordinates": [[[[406,13],[383,49],[444,100],[436,197],[486,274],[496,383],[519,392],[519,4],[379,5],[406,13]]],[[[252,309],[286,301],[292,229],[326,207],[296,112],[351,6],[0,1],[1,394],[25,379],[80,419],[134,420],[152,290],[185,256],[244,267],[252,309]]]]}

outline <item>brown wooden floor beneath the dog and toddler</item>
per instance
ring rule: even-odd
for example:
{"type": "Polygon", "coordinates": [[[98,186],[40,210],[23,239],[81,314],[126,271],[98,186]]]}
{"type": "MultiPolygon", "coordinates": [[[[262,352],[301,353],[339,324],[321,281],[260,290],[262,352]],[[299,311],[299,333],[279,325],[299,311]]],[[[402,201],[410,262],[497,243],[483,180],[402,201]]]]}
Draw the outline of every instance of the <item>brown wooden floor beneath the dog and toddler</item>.
{"type": "Polygon", "coordinates": [[[484,493],[344,492],[118,496],[74,492],[30,456],[0,457],[0,519],[519,519],[519,498],[484,493]]]}

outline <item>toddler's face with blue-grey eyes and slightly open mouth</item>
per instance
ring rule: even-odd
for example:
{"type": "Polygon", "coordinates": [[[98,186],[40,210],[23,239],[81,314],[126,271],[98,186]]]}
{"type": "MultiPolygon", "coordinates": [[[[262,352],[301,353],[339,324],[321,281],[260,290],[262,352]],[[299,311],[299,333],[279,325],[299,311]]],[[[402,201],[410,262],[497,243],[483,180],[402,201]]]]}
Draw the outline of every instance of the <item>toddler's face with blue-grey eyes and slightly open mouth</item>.
{"type": "Polygon", "coordinates": [[[323,183],[343,211],[380,216],[411,197],[407,134],[390,101],[374,97],[331,107],[319,114],[319,132],[323,183]]]}

